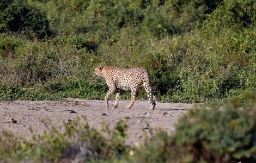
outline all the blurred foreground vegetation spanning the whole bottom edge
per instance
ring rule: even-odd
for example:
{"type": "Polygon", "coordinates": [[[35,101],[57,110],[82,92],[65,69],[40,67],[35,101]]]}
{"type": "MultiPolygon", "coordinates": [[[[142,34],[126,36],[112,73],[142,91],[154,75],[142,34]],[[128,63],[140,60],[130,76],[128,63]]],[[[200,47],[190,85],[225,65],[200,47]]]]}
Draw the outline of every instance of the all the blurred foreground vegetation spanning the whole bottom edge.
{"type": "Polygon", "coordinates": [[[222,109],[195,106],[181,117],[172,135],[144,130],[142,145],[127,145],[125,121],[114,129],[90,127],[86,118],[48,127],[26,140],[3,131],[0,162],[255,162],[256,95],[247,93],[222,109]],[[251,105],[241,108],[241,101],[251,105]]]}

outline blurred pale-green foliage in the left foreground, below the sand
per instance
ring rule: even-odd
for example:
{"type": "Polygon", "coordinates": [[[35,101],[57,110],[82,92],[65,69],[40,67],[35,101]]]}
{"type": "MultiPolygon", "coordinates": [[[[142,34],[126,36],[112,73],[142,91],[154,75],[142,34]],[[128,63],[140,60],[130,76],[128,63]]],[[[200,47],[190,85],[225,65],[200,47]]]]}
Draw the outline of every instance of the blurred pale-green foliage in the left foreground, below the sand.
{"type": "Polygon", "coordinates": [[[0,161],[61,162],[65,160],[90,161],[106,160],[126,155],[129,146],[124,144],[127,125],[119,121],[114,130],[103,124],[102,130],[89,126],[82,120],[64,124],[64,131],[48,127],[43,135],[26,140],[3,131],[0,137],[0,161]]]}

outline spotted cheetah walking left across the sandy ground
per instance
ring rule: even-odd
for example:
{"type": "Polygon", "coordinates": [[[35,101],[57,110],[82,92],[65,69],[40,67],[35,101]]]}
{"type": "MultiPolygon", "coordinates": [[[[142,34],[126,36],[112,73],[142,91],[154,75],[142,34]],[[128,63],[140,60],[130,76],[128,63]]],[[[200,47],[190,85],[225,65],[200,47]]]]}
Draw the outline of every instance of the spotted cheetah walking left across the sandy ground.
{"type": "Polygon", "coordinates": [[[105,96],[105,105],[108,108],[108,98],[114,93],[115,103],[113,108],[118,107],[120,89],[122,90],[131,90],[131,103],[126,106],[126,109],[131,109],[132,105],[135,102],[136,90],[140,84],[143,84],[145,90],[148,93],[148,100],[150,102],[150,110],[154,110],[155,96],[151,91],[150,76],[147,70],[142,67],[134,68],[119,68],[117,66],[98,66],[94,70],[94,75],[99,77],[105,77],[106,83],[108,85],[108,92],[105,96]]]}

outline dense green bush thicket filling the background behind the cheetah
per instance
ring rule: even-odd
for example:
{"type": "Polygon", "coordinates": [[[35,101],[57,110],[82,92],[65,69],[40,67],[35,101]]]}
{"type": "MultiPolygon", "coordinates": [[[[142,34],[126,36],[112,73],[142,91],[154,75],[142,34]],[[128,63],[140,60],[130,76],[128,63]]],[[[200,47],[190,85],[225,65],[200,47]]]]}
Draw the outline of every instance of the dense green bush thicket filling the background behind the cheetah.
{"type": "Polygon", "coordinates": [[[147,68],[159,101],[238,97],[256,88],[255,18],[253,0],[3,0],[0,97],[102,99],[100,64],[147,68]]]}

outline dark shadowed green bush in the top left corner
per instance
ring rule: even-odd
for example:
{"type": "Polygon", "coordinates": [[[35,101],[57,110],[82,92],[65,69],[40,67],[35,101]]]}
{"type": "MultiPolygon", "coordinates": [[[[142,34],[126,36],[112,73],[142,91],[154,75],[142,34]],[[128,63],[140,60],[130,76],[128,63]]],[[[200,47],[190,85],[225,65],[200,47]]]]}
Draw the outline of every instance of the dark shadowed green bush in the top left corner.
{"type": "Polygon", "coordinates": [[[1,1],[0,15],[0,32],[20,32],[39,39],[50,34],[46,15],[36,8],[28,7],[26,1],[1,1]]]}

